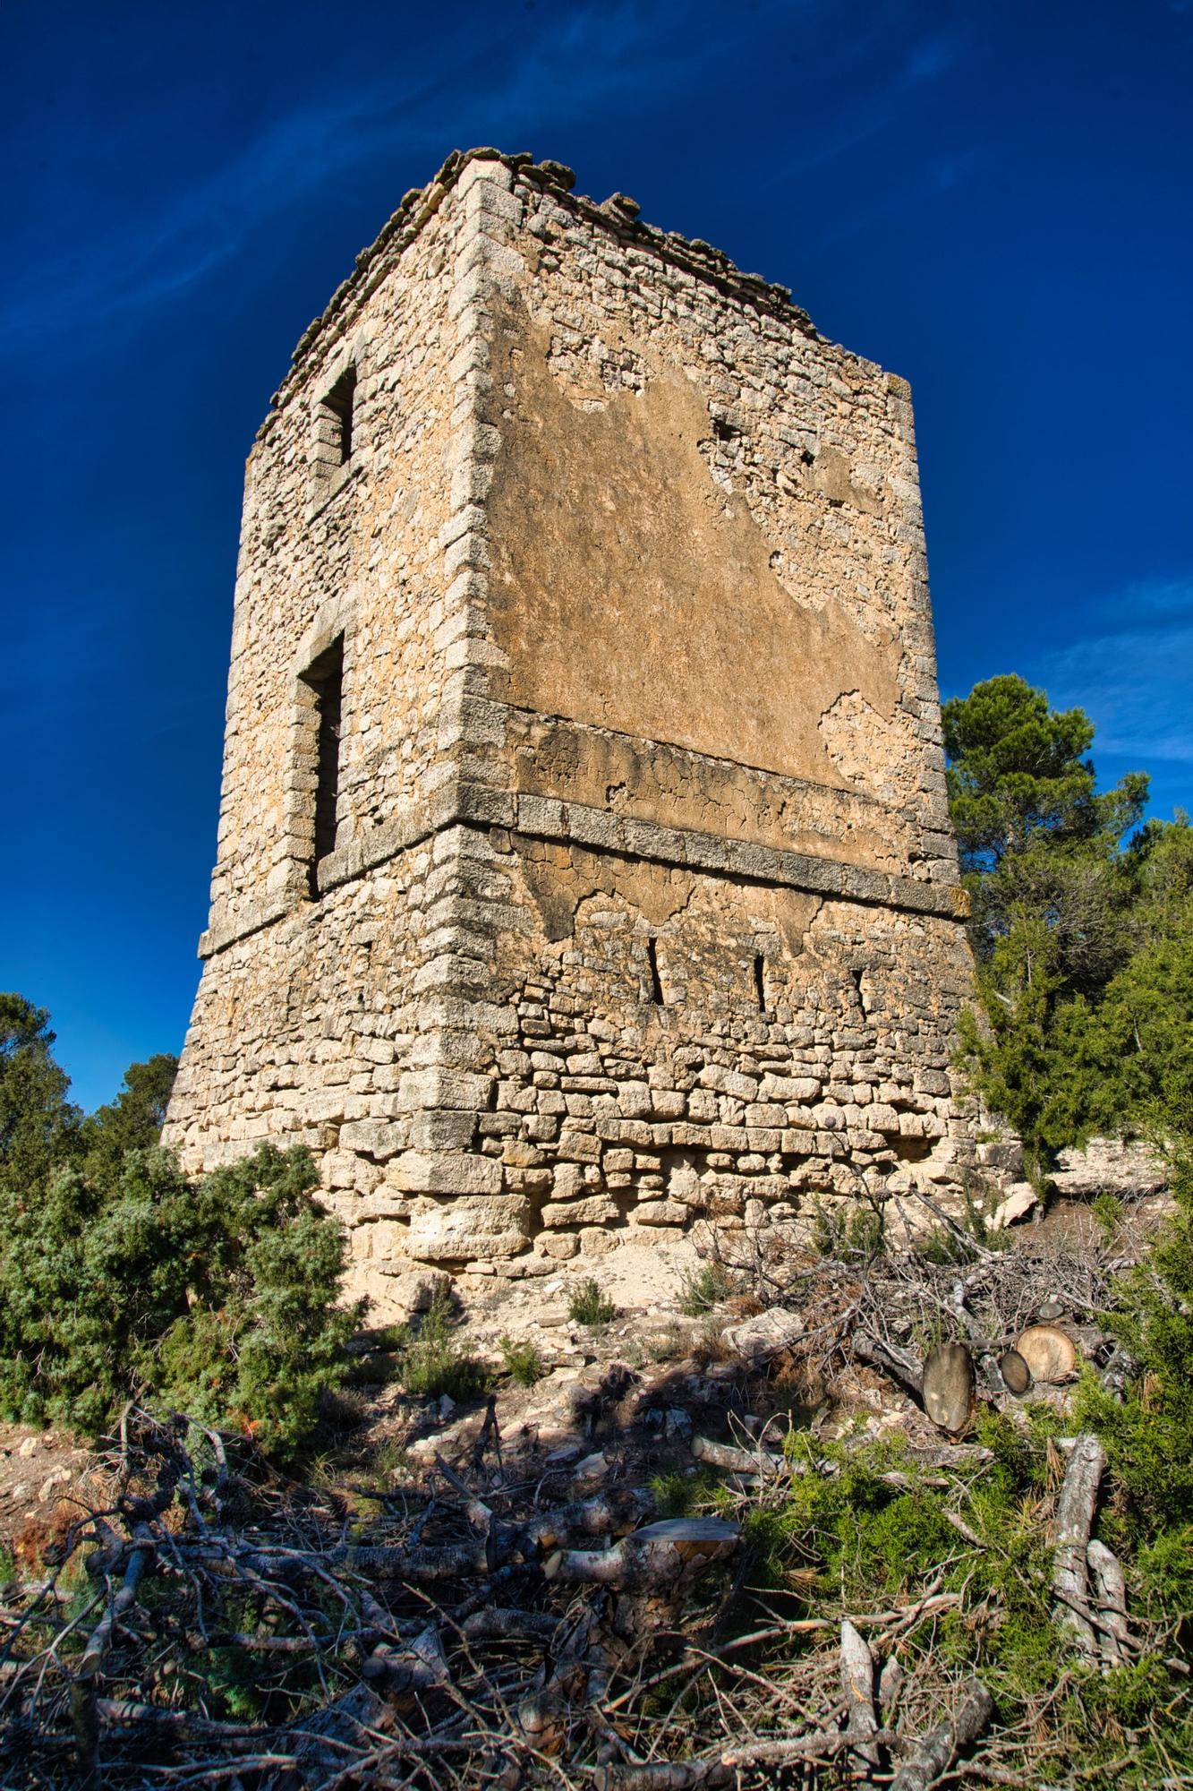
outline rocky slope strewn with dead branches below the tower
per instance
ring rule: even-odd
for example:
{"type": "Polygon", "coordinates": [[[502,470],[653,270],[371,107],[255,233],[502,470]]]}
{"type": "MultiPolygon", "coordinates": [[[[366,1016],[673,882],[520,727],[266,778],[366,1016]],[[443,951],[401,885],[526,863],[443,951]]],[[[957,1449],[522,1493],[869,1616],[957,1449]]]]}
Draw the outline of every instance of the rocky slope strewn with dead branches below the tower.
{"type": "Polygon", "coordinates": [[[1172,1648],[1096,1578],[1121,1587],[1089,1540],[1105,1454],[1069,1406],[1082,1361],[1130,1374],[1100,1315],[1164,1209],[1145,1193],[1107,1225],[1069,1196],[991,1236],[930,1204],[915,1248],[768,1229],[613,1250],[596,1275],[410,1273],[405,1325],[356,1340],[292,1474],[136,1411],[97,1451],[7,1427],[0,1782],[923,1791],[976,1744],[958,1784],[1034,1784],[1021,1732],[1069,1757],[1051,1684],[998,1716],[939,1624],[957,1646],[1014,1621],[991,1562],[1025,1524],[1016,1551],[1059,1544],[1041,1633],[1091,1614],[1064,1644],[1084,1671],[1172,1648]],[[1046,1485],[991,1515],[991,1415],[1026,1447],[1041,1413],[1046,1485]],[[811,1524],[828,1547],[851,1476],[878,1580],[847,1594],[820,1542],[777,1538],[811,1524]]]}

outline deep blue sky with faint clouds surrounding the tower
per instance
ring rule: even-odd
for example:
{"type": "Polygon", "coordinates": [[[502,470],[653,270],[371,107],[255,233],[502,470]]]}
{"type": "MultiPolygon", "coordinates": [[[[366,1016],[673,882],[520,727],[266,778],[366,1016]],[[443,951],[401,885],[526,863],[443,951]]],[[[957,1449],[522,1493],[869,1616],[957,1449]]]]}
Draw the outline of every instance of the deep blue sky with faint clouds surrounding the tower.
{"type": "Polygon", "coordinates": [[[9,0],[0,989],[177,1050],[244,457],[453,147],[554,156],[910,378],[944,693],[1193,801],[1193,0],[9,0]]]}

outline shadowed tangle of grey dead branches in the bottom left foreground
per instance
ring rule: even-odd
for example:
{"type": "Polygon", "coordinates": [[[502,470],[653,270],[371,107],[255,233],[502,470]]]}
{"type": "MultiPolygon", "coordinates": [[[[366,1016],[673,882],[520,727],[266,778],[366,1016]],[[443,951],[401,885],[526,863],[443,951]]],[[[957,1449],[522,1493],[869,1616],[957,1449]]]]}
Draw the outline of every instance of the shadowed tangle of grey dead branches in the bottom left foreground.
{"type": "Polygon", "coordinates": [[[928,1734],[896,1728],[862,1632],[906,1633],[923,1599],[833,1633],[828,1676],[760,1675],[743,1662],[815,1624],[731,1633],[738,1524],[659,1522],[632,1485],[557,1503],[503,1463],[493,1408],[468,1461],[351,1501],[229,1451],[129,1415],[59,1564],[0,1592],[5,1787],[684,1791],[824,1768],[912,1791],[991,1718],[969,1684],[928,1734]]]}

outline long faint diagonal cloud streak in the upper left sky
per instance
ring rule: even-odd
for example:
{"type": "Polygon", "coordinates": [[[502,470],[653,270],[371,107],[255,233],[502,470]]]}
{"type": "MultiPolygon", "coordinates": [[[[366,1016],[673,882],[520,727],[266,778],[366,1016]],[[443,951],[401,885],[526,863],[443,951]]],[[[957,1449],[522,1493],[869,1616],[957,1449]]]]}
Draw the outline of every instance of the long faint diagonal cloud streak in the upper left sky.
{"type": "MultiPolygon", "coordinates": [[[[802,0],[802,9],[817,4],[802,0]]],[[[752,25],[765,30],[790,14],[792,0],[765,0],[752,25]]],[[[425,177],[457,141],[532,149],[512,138],[546,140],[577,120],[632,115],[657,97],[661,68],[668,86],[682,88],[717,66],[717,34],[677,36],[674,23],[670,7],[588,0],[536,13],[534,32],[516,41],[498,18],[487,38],[471,34],[466,59],[451,47],[423,79],[387,70],[296,107],[158,210],[133,210],[127,227],[72,238],[68,254],[38,260],[23,285],[0,296],[0,355],[21,356],[185,294],[265,220],[367,163],[385,159],[425,177]]]]}

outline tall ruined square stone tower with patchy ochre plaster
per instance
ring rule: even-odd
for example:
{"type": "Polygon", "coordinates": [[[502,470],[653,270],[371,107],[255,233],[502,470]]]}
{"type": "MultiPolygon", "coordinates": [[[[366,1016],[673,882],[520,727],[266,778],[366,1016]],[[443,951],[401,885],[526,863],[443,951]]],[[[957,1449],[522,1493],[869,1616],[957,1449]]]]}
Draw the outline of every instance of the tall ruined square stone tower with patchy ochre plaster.
{"type": "Polygon", "coordinates": [[[451,156],[247,466],[165,1137],[308,1143],[365,1277],[971,1150],[908,387],[570,188],[451,156]]]}

